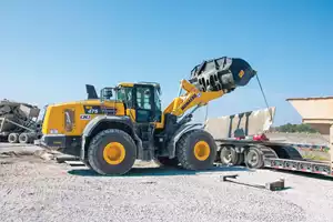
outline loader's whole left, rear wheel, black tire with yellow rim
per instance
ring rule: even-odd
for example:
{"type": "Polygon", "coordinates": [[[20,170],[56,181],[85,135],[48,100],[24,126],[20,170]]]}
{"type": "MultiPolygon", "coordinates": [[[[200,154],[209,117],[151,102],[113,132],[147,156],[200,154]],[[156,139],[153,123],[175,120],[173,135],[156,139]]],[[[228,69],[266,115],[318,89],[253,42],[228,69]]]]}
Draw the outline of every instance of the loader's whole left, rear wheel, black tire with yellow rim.
{"type": "Polygon", "coordinates": [[[122,175],[131,170],[137,159],[137,145],[124,131],[109,129],[98,133],[88,148],[92,170],[102,175],[122,175]]]}

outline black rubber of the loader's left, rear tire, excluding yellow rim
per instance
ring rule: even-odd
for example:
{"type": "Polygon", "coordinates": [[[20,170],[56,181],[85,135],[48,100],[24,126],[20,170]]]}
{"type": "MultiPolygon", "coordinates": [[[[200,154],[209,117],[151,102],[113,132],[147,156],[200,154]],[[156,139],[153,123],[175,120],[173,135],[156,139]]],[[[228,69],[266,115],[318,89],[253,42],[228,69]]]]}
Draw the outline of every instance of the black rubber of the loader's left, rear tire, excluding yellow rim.
{"type": "MultiPolygon", "coordinates": [[[[137,159],[137,145],[133,139],[124,131],[109,129],[98,133],[88,148],[90,168],[102,175],[122,175],[131,170],[137,159]],[[110,164],[103,158],[104,148],[110,142],[120,143],[125,151],[122,162],[110,164]]],[[[88,165],[89,167],[89,165],[88,165]]]]}

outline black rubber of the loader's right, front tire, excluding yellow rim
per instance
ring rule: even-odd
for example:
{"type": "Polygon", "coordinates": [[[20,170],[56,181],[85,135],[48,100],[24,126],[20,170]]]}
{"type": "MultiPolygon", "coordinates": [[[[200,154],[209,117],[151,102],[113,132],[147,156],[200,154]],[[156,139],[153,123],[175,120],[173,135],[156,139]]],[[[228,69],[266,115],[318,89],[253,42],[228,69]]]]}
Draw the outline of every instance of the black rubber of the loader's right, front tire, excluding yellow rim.
{"type": "Polygon", "coordinates": [[[213,168],[216,159],[216,143],[213,137],[203,130],[193,130],[179,140],[176,143],[176,158],[182,168],[186,170],[208,170],[213,168]],[[198,142],[204,141],[209,148],[209,154],[205,160],[199,160],[194,155],[194,147],[198,142]]]}

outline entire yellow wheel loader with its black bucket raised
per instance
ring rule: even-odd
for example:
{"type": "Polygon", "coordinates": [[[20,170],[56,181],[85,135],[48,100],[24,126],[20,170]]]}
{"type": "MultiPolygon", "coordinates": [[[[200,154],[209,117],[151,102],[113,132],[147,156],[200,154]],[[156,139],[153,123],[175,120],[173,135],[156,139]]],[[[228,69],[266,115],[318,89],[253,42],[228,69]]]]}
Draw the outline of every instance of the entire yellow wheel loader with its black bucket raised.
{"type": "Polygon", "coordinates": [[[255,74],[243,59],[204,60],[181,80],[179,95],[163,110],[159,83],[121,82],[100,95],[87,84],[85,100],[47,108],[41,143],[79,157],[99,174],[125,174],[135,160],[206,170],[213,167],[216,144],[203,124],[191,123],[193,112],[255,74]]]}

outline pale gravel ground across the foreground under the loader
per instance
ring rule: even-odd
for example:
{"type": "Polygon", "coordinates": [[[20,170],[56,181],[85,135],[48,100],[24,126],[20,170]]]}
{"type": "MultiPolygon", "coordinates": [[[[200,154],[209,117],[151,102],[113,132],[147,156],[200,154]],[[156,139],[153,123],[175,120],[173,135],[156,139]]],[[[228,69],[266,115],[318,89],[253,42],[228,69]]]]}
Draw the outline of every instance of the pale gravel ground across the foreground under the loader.
{"type": "Polygon", "coordinates": [[[99,176],[84,167],[38,157],[0,158],[0,221],[333,221],[333,181],[269,170],[216,168],[191,173],[138,163],[127,176],[99,176]],[[220,181],[264,184],[271,192],[220,181]]]}

